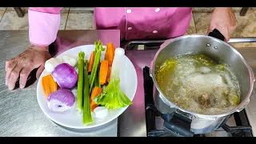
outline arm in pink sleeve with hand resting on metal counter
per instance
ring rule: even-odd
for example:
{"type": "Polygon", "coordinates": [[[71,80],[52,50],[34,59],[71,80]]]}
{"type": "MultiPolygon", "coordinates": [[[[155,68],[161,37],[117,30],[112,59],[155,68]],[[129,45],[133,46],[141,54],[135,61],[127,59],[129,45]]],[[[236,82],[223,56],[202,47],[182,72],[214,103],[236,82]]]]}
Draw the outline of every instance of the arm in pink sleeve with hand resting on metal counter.
{"type": "Polygon", "coordinates": [[[55,7],[29,8],[29,35],[31,45],[15,58],[6,61],[6,85],[13,90],[19,77],[24,88],[30,72],[36,68],[37,78],[51,55],[48,46],[55,41],[60,24],[60,10],[55,7]]]}

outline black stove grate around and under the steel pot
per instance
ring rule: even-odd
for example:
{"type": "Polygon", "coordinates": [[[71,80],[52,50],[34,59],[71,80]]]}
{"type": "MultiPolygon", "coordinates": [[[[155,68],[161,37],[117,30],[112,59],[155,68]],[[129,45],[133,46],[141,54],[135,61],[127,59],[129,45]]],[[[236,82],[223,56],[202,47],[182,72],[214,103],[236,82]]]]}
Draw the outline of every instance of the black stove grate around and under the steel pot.
{"type": "MultiPolygon", "coordinates": [[[[146,106],[146,131],[148,137],[177,137],[181,135],[171,134],[169,131],[159,129],[157,125],[162,125],[158,110],[154,107],[154,82],[150,77],[149,67],[143,68],[144,77],[144,92],[145,92],[145,106],[146,106]],[[160,121],[159,121],[160,119],[160,121]]],[[[220,129],[230,137],[253,137],[251,133],[251,126],[246,117],[246,111],[242,110],[239,113],[234,113],[234,121],[236,126],[228,126],[224,124],[220,129]]],[[[217,130],[215,130],[217,131],[217,130]]],[[[224,136],[226,134],[221,134],[224,136]]],[[[188,134],[193,137],[208,137],[210,134],[188,134]]],[[[216,136],[216,135],[215,135],[216,136]]]]}

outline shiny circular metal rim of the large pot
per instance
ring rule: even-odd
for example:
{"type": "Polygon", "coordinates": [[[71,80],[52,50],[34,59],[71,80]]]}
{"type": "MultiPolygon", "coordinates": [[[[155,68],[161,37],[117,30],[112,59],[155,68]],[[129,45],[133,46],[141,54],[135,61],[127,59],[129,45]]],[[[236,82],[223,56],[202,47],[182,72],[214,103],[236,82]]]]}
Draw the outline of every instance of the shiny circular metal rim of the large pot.
{"type": "MultiPolygon", "coordinates": [[[[152,63],[152,62],[151,62],[152,63]]],[[[216,117],[224,117],[226,115],[230,115],[230,114],[233,114],[234,112],[240,112],[241,110],[243,110],[247,105],[248,103],[250,102],[250,95],[252,94],[252,91],[253,91],[253,88],[254,88],[254,81],[255,81],[255,78],[254,78],[254,72],[253,70],[250,68],[248,62],[246,62],[246,59],[243,58],[242,54],[240,54],[238,52],[238,50],[236,50],[233,46],[230,46],[230,44],[228,44],[227,42],[224,42],[218,38],[214,38],[214,37],[210,37],[208,35],[203,35],[203,34],[190,34],[190,35],[183,35],[181,37],[178,37],[178,38],[173,38],[171,39],[170,41],[168,42],[165,42],[162,44],[162,47],[157,51],[157,53],[154,55],[154,59],[153,59],[153,63],[152,63],[152,67],[150,66],[150,69],[152,69],[151,71],[151,77],[153,79],[153,82],[154,82],[154,86],[156,87],[156,89],[158,90],[159,92],[159,97],[162,99],[163,102],[165,102],[168,106],[174,106],[175,109],[178,109],[178,110],[182,110],[183,112],[187,113],[187,114],[192,114],[194,115],[195,117],[198,117],[198,118],[216,118],[216,117]],[[249,75],[250,75],[250,90],[248,92],[248,94],[246,95],[246,98],[240,102],[240,104],[236,107],[234,107],[232,110],[229,110],[225,113],[221,113],[221,114],[197,114],[197,113],[193,113],[193,112],[190,112],[188,110],[184,110],[182,109],[181,107],[175,105],[173,102],[170,102],[170,100],[168,98],[166,98],[166,95],[162,93],[162,90],[160,90],[159,86],[158,86],[158,82],[156,82],[156,79],[155,79],[155,74],[154,74],[154,65],[155,65],[155,61],[156,59],[158,58],[158,54],[166,47],[168,46],[171,42],[175,42],[175,41],[178,41],[180,39],[183,39],[183,38],[211,38],[211,39],[214,39],[215,41],[217,42],[220,42],[222,45],[225,45],[225,46],[229,46],[230,49],[234,50],[234,53],[235,54],[238,54],[238,56],[240,58],[242,58],[242,62],[244,62],[244,64],[246,65],[247,67],[247,70],[249,71],[249,75]]]]}

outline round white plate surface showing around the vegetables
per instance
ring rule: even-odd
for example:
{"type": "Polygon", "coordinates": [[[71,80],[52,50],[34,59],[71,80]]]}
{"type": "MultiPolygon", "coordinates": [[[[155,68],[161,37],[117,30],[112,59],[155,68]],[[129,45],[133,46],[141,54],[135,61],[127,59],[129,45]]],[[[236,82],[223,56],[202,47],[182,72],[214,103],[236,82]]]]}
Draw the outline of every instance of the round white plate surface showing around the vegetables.
{"type": "MultiPolygon", "coordinates": [[[[106,47],[106,46],[103,46],[106,47]]],[[[85,52],[85,58],[89,59],[90,54],[94,50],[94,45],[85,45],[85,46],[78,46],[74,47],[73,49],[66,50],[62,54],[58,55],[57,58],[62,58],[62,56],[72,56],[74,58],[78,58],[78,53],[80,51],[85,52]]],[[[101,60],[104,58],[105,51],[102,52],[101,60]]],[[[49,74],[49,73],[48,73],[49,74]]],[[[126,108],[120,108],[116,110],[109,110],[109,114],[105,118],[94,118],[94,122],[90,125],[84,126],[82,124],[82,114],[78,114],[78,111],[75,109],[76,102],[74,103],[73,107],[70,110],[67,110],[62,113],[57,113],[51,111],[46,103],[46,95],[43,93],[42,90],[42,77],[47,75],[46,71],[43,71],[40,78],[38,79],[38,86],[37,86],[37,98],[38,98],[38,104],[41,107],[42,111],[48,118],[50,118],[52,121],[66,127],[75,128],[75,129],[86,129],[86,128],[92,128],[96,126],[102,126],[106,124],[107,122],[110,122],[114,120],[115,118],[118,118],[120,114],[122,114],[126,108]]],[[[121,70],[120,70],[120,86],[123,92],[127,95],[128,98],[132,101],[134,99],[135,92],[137,90],[138,85],[138,79],[136,70],[134,68],[134,65],[132,62],[130,62],[130,59],[126,56],[122,59],[121,64],[121,70]]],[[[72,90],[74,95],[77,95],[76,88],[72,90]]]]}

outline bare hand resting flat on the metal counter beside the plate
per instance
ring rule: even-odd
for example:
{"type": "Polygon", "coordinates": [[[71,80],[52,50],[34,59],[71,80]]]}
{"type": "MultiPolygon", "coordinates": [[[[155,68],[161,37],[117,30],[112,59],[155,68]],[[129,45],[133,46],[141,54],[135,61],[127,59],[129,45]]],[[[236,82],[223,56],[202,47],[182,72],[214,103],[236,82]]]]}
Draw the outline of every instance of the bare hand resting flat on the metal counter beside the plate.
{"type": "Polygon", "coordinates": [[[45,62],[50,58],[47,46],[30,46],[22,54],[6,61],[6,86],[13,90],[19,77],[19,87],[23,89],[30,72],[38,68],[38,78],[44,70],[45,62]]]}

